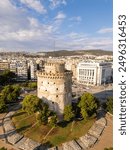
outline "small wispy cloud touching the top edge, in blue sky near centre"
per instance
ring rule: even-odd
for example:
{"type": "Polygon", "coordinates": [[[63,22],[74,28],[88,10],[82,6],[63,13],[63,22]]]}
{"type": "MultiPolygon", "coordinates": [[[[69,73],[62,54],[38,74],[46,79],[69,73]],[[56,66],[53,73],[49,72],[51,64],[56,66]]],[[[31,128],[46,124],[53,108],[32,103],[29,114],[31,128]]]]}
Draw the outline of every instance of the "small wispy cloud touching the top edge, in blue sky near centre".
{"type": "Polygon", "coordinates": [[[66,0],[49,0],[50,1],[50,8],[55,9],[60,5],[67,5],[66,0]]]}

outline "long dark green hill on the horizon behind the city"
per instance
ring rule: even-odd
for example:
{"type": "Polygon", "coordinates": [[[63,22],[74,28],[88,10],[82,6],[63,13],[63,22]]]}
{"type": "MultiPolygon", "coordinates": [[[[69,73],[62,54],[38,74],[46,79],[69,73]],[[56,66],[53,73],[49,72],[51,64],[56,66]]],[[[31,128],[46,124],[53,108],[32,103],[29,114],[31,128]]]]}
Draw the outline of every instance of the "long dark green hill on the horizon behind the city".
{"type": "Polygon", "coordinates": [[[46,56],[53,56],[53,57],[59,57],[59,56],[72,56],[72,55],[113,55],[112,51],[105,51],[105,50],[74,50],[74,51],[67,51],[67,50],[59,50],[59,51],[51,51],[51,52],[45,52],[46,56]]]}

